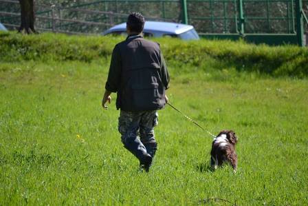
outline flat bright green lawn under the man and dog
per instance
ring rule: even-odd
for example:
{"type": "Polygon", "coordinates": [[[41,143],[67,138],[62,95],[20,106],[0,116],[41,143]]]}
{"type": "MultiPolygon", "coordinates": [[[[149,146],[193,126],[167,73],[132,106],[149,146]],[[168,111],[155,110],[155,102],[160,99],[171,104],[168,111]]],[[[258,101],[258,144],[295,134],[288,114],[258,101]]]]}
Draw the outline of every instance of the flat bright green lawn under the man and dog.
{"type": "Polygon", "coordinates": [[[239,168],[211,172],[212,138],[167,106],[146,174],[122,147],[115,95],[100,105],[108,65],[0,64],[0,205],[308,204],[307,78],[170,66],[170,103],[234,130],[239,168]]]}

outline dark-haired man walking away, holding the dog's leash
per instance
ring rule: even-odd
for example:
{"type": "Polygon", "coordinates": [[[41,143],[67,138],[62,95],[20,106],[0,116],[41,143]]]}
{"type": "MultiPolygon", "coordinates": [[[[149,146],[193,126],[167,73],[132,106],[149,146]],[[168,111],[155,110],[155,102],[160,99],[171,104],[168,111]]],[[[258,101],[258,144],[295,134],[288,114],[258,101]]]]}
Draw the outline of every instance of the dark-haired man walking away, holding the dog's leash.
{"type": "Polygon", "coordinates": [[[157,150],[154,136],[157,110],[168,102],[166,89],[170,79],[159,44],[143,39],[143,28],[142,14],[129,14],[128,37],[113,49],[102,107],[107,109],[111,92],[117,92],[122,143],[148,172],[157,150]]]}

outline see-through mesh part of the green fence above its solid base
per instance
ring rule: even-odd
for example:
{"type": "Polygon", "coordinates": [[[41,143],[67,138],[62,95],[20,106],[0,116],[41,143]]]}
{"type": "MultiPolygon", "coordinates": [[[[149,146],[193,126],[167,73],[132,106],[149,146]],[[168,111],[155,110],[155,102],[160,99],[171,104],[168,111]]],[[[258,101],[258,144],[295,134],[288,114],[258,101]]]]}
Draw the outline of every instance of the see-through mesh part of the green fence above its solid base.
{"type": "Polygon", "coordinates": [[[187,0],[189,23],[205,33],[294,33],[293,0],[187,0]],[[195,8],[202,10],[195,10],[195,8]],[[254,8],[254,9],[252,9],[254,8]],[[259,8],[256,10],[256,8],[259,8]],[[203,9],[206,9],[204,11],[203,9]],[[239,23],[243,22],[243,28],[239,23]]]}

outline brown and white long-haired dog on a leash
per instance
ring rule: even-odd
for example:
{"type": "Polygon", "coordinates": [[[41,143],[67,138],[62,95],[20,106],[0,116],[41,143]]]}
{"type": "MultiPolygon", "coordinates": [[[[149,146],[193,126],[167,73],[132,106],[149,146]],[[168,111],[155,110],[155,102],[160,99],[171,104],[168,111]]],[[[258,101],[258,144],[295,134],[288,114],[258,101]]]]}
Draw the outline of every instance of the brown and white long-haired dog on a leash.
{"type": "Polygon", "coordinates": [[[217,166],[229,162],[233,171],[236,172],[237,155],[235,153],[235,144],[237,136],[232,130],[221,131],[212,142],[212,150],[210,151],[210,165],[213,169],[217,166]]]}

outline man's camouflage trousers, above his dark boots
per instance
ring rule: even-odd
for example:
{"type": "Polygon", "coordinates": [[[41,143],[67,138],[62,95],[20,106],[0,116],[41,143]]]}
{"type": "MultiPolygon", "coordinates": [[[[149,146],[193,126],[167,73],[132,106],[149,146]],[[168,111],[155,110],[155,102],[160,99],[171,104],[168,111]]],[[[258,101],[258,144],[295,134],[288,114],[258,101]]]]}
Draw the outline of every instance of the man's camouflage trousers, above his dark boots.
{"type": "Polygon", "coordinates": [[[156,143],[154,127],[158,124],[157,111],[120,112],[118,130],[122,143],[133,141],[140,136],[142,144],[156,143]]]}

